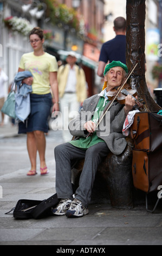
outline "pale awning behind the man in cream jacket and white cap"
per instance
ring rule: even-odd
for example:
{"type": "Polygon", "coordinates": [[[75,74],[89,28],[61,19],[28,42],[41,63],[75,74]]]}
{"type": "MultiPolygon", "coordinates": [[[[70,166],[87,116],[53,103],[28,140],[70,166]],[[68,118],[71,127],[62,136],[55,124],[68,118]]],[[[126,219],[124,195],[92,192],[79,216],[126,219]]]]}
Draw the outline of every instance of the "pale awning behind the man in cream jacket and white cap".
{"type": "MultiPolygon", "coordinates": [[[[57,51],[57,53],[59,53],[60,58],[62,60],[66,60],[66,57],[68,56],[69,51],[59,50],[59,51],[57,51]]],[[[81,54],[76,53],[76,52],[75,52],[75,54],[77,57],[77,62],[81,62],[83,65],[88,66],[88,68],[96,69],[96,67],[98,66],[98,63],[94,62],[94,60],[89,59],[85,56],[81,56],[81,54]]]]}

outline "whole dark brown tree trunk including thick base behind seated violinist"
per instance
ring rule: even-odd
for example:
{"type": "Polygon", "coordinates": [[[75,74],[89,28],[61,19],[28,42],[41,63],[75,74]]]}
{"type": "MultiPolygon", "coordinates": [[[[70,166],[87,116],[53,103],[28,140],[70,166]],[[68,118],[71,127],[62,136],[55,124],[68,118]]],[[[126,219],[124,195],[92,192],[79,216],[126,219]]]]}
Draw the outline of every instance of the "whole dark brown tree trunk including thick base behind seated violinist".
{"type": "MultiPolygon", "coordinates": [[[[139,60],[131,75],[130,84],[137,89],[139,99],[145,101],[144,111],[158,111],[160,107],[152,99],[147,89],[145,79],[145,0],[127,0],[127,51],[126,62],[128,69],[139,60]]],[[[98,167],[92,200],[104,202],[110,200],[117,208],[132,208],[133,203],[144,202],[142,191],[133,194],[132,179],[132,145],[133,140],[127,138],[128,145],[121,155],[108,154],[98,167]]],[[[79,182],[83,161],[79,161],[72,169],[74,184],[79,182]]]]}

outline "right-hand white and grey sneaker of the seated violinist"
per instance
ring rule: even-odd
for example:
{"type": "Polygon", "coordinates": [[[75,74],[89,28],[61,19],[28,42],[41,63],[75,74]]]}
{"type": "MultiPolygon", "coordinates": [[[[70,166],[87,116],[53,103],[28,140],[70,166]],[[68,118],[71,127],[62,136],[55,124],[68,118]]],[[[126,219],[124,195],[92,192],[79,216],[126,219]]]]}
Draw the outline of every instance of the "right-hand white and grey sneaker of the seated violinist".
{"type": "Polygon", "coordinates": [[[86,214],[88,214],[88,209],[76,198],[72,201],[70,208],[66,211],[67,217],[82,217],[86,214]]]}

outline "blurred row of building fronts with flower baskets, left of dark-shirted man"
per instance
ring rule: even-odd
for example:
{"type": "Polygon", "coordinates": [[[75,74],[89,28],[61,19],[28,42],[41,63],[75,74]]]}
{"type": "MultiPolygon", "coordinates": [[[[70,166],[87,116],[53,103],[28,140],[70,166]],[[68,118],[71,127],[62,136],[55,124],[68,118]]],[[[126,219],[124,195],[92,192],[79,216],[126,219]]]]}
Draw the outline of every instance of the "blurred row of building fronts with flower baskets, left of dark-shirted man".
{"type": "Polygon", "coordinates": [[[94,94],[103,38],[103,0],[0,0],[0,3],[1,65],[9,76],[9,83],[14,79],[22,54],[32,50],[28,33],[19,31],[26,22],[28,31],[35,26],[44,30],[46,51],[57,60],[63,62],[68,51],[79,54],[78,64],[85,70],[89,96],[94,94]]]}

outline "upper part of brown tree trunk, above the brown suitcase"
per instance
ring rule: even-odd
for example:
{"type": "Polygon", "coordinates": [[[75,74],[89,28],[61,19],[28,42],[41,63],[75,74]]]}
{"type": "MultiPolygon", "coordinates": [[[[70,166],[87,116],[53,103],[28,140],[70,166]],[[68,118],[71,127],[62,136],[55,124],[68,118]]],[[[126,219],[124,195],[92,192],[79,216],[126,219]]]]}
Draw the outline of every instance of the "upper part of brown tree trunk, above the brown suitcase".
{"type": "Polygon", "coordinates": [[[139,60],[131,75],[129,83],[137,89],[139,99],[145,102],[144,111],[158,111],[160,106],[155,103],[148,92],[145,78],[145,0],[127,0],[127,31],[126,31],[126,63],[128,70],[139,60]]]}

